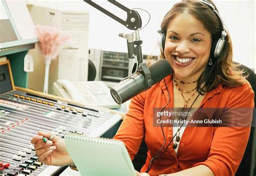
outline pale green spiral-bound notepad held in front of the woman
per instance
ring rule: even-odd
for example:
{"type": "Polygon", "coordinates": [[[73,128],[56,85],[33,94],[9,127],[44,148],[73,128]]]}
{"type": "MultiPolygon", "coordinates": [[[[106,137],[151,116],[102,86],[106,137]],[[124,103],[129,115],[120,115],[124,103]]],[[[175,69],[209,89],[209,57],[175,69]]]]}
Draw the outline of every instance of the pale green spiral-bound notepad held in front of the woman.
{"type": "Polygon", "coordinates": [[[67,134],[65,143],[81,175],[136,175],[122,141],[67,134]]]}

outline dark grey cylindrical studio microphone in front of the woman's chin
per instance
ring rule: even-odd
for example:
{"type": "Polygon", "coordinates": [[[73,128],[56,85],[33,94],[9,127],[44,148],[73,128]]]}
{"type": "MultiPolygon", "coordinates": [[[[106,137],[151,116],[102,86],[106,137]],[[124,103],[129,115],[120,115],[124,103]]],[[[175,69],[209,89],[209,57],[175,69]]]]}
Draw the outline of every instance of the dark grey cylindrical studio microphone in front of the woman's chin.
{"type": "MultiPolygon", "coordinates": [[[[172,68],[166,59],[160,59],[149,66],[151,73],[151,79],[153,86],[155,83],[164,79],[167,75],[171,74],[172,68]]],[[[136,74],[130,78],[119,82],[116,86],[110,89],[110,93],[117,104],[122,104],[132,97],[142,93],[146,90],[145,74],[142,70],[139,70],[136,74]]]]}

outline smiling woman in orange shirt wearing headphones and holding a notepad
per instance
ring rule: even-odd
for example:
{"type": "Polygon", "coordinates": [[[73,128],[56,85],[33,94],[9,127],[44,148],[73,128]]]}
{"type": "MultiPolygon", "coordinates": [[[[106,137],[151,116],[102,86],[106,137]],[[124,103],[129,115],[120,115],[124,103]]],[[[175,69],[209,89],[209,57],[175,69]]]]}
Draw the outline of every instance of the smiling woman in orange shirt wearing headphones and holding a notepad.
{"type": "MultiPolygon", "coordinates": [[[[132,160],[145,139],[149,150],[137,175],[234,175],[251,124],[231,126],[221,121],[233,118],[230,109],[247,108],[239,117],[251,122],[254,93],[242,71],[233,64],[230,35],[217,9],[210,0],[181,1],[167,12],[160,31],[161,58],[169,61],[173,72],[132,98],[114,139],[124,142],[132,160]],[[174,108],[187,114],[191,108],[215,111],[204,118],[208,119],[206,122],[195,115],[200,111],[192,117],[163,115],[174,108]],[[212,120],[216,119],[214,114],[218,115],[218,122],[212,120]],[[171,123],[174,119],[178,125],[171,123]],[[191,126],[186,123],[191,119],[204,123],[191,126]]],[[[38,136],[32,138],[32,143],[42,161],[72,164],[63,141],[57,139],[58,143],[50,144],[56,146],[51,152],[44,151],[42,143],[37,142],[38,136]]]]}

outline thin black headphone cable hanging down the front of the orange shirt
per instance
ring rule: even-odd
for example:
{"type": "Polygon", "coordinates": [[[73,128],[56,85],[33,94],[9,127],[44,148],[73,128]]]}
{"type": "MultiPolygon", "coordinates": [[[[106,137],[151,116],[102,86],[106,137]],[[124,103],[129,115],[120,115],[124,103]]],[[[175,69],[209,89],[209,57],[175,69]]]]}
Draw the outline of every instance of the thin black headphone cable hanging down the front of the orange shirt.
{"type": "MultiPolygon", "coordinates": [[[[210,75],[211,75],[211,73],[212,73],[212,69],[214,68],[214,66],[215,66],[216,63],[217,63],[217,62],[215,62],[215,63],[212,65],[212,68],[211,68],[211,71],[210,71],[210,73],[209,73],[209,75],[208,75],[207,80],[210,78],[210,75]]],[[[164,80],[164,81],[165,81],[165,80],[164,80]]],[[[205,82],[206,82],[206,81],[205,81],[205,82]]],[[[206,84],[204,84],[204,86],[203,86],[203,88],[202,88],[201,90],[204,90],[205,85],[206,85],[206,84]]],[[[168,95],[169,95],[169,101],[167,102],[167,104],[169,104],[169,102],[170,102],[170,92],[169,92],[169,89],[167,88],[166,82],[165,82],[165,87],[166,87],[167,92],[168,92],[168,95]]],[[[200,91],[200,93],[201,93],[201,91],[200,91]]],[[[191,106],[190,106],[190,109],[192,108],[193,104],[196,102],[196,100],[197,100],[197,98],[199,97],[200,93],[197,95],[197,97],[196,97],[196,98],[194,99],[194,101],[192,102],[192,104],[191,104],[191,106]]],[[[165,107],[167,106],[167,104],[165,105],[165,107]]],[[[165,107],[164,107],[164,108],[165,108],[165,107]]],[[[164,108],[163,108],[161,111],[163,111],[164,108]]],[[[188,109],[188,111],[190,111],[190,109],[188,109]]],[[[160,116],[159,118],[161,119],[161,116],[160,116]]],[[[186,115],[186,118],[187,118],[187,115],[186,115]]],[[[165,145],[165,143],[166,143],[166,141],[164,140],[164,144],[163,144],[163,146],[161,147],[161,149],[160,149],[160,150],[154,155],[154,157],[150,160],[150,163],[149,163],[149,166],[147,167],[146,173],[149,173],[149,171],[151,170],[151,168],[152,168],[152,166],[153,166],[153,163],[154,163],[154,159],[160,157],[160,156],[168,149],[168,147],[169,147],[170,144],[172,143],[174,137],[177,136],[177,133],[180,131],[180,129],[181,129],[181,127],[182,127],[183,125],[184,125],[184,122],[180,125],[179,129],[177,130],[177,132],[175,133],[175,135],[172,137],[172,139],[170,140],[170,142],[168,143],[168,145],[166,146],[166,148],[164,149],[164,151],[160,153],[160,151],[163,149],[163,147],[164,147],[164,145],[165,145]],[[160,153],[160,154],[158,155],[158,153],[160,153]]],[[[161,130],[162,130],[162,132],[163,132],[164,139],[165,139],[165,134],[164,134],[163,126],[162,126],[162,125],[161,125],[161,130]]]]}

